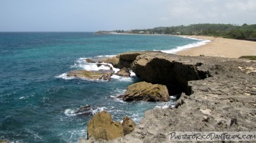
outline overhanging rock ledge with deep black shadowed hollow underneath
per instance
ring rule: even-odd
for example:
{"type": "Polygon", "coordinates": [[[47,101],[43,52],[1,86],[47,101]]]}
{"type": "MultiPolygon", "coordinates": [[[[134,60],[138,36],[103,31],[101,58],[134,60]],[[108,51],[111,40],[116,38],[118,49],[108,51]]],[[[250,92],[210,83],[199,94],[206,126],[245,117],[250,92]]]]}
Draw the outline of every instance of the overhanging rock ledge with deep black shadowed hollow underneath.
{"type": "Polygon", "coordinates": [[[147,82],[178,86],[186,94],[191,94],[188,81],[211,77],[208,71],[198,70],[196,62],[180,61],[176,55],[145,53],[137,56],[132,63],[132,71],[147,82]]]}

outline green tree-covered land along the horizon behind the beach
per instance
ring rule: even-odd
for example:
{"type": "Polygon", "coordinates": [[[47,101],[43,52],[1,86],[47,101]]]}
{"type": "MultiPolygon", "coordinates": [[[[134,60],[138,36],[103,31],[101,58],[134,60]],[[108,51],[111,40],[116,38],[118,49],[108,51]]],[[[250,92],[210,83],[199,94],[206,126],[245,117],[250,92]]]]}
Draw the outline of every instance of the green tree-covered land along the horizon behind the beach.
{"type": "Polygon", "coordinates": [[[242,26],[234,24],[191,24],[188,26],[161,26],[153,29],[134,29],[131,31],[122,32],[128,32],[132,34],[222,36],[229,39],[245,39],[256,41],[256,24],[243,24],[242,26]]]}

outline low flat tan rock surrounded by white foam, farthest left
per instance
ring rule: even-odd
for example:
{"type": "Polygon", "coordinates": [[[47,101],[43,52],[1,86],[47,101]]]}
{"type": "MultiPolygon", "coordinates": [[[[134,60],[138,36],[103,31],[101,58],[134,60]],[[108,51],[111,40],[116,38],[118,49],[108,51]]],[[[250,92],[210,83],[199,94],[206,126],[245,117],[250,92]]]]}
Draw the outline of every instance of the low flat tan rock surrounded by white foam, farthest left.
{"type": "Polygon", "coordinates": [[[104,79],[109,80],[114,71],[99,70],[99,71],[86,71],[86,70],[73,70],[68,73],[68,77],[81,77],[87,79],[104,79]]]}

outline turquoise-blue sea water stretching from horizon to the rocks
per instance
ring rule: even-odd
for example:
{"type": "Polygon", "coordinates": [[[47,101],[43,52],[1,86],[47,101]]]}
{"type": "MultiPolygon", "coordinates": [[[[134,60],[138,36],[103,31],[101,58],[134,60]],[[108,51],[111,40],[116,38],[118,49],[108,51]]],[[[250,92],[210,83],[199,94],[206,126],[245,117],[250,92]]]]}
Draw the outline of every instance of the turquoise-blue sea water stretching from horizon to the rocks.
{"type": "Polygon", "coordinates": [[[0,139],[14,142],[78,142],[92,115],[74,114],[86,104],[115,120],[135,122],[146,110],[173,104],[122,102],[115,97],[140,79],[109,82],[68,79],[65,73],[93,65],[84,59],[124,51],[171,50],[198,42],[177,36],[93,33],[0,33],[0,139]]]}

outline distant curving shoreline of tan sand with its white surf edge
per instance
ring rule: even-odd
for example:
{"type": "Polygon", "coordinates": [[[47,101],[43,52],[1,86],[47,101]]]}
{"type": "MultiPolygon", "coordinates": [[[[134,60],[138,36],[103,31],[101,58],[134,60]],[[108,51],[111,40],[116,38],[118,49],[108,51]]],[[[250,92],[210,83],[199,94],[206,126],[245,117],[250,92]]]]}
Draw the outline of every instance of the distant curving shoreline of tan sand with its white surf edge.
{"type": "MultiPolygon", "coordinates": [[[[224,39],[214,36],[195,36],[195,35],[171,35],[171,34],[129,34],[120,35],[148,35],[148,36],[178,36],[186,39],[201,40],[193,44],[178,46],[175,49],[160,50],[168,54],[180,56],[219,56],[227,58],[239,58],[240,56],[256,56],[256,42],[224,39]]],[[[153,50],[154,51],[154,50],[153,50]]]]}

